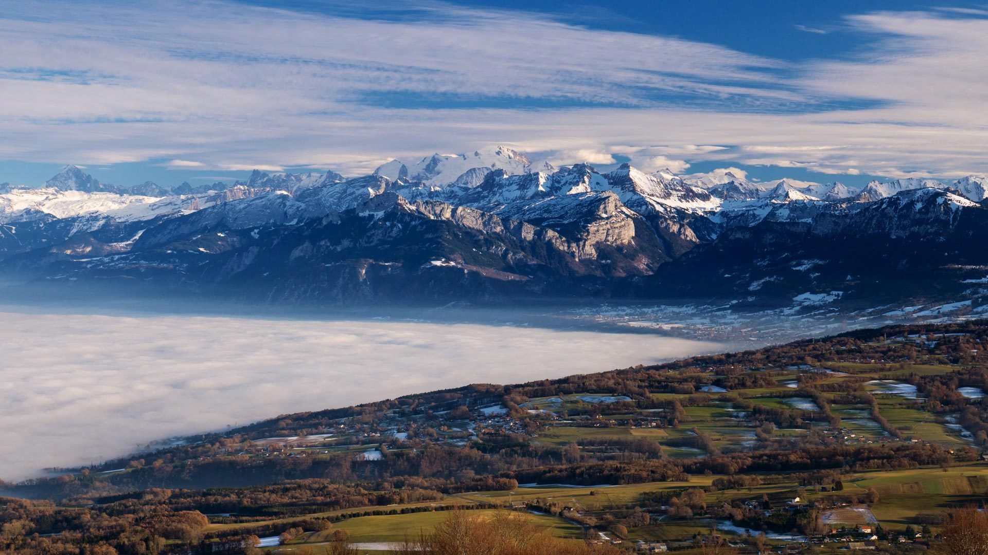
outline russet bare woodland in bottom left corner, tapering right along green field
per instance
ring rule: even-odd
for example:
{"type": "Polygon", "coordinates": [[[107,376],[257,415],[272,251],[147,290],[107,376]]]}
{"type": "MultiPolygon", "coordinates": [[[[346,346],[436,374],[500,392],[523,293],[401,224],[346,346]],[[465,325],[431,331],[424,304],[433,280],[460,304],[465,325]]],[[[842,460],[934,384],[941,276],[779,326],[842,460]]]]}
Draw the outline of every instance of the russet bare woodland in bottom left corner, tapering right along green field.
{"type": "MultiPolygon", "coordinates": [[[[381,509],[377,512],[365,509],[337,518],[397,514],[398,510],[387,506],[438,501],[444,494],[461,491],[517,487],[517,481],[495,476],[459,481],[408,476],[350,484],[307,479],[205,491],[155,488],[97,499],[89,507],[60,507],[50,501],[0,498],[0,552],[153,555],[164,552],[166,545],[170,545],[185,546],[194,552],[206,549],[209,553],[240,553],[244,542],[249,543],[250,535],[285,534],[284,538],[289,540],[303,531],[324,530],[331,522],[327,518],[303,518],[229,528],[212,533],[208,545],[203,546],[209,523],[206,515],[232,513],[235,515],[215,516],[213,520],[249,523],[366,507],[381,509]]],[[[416,509],[403,508],[401,512],[416,509]]]]}

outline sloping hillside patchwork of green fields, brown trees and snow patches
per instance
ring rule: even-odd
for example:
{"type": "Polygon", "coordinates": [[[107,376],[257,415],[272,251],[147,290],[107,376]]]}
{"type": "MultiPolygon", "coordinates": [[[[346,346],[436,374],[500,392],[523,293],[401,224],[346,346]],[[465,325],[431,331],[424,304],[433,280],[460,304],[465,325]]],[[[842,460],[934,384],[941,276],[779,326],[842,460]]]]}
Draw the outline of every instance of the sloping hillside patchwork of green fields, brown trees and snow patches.
{"type": "Polygon", "coordinates": [[[46,518],[40,531],[58,531],[45,512],[198,511],[214,546],[257,535],[286,555],[335,553],[343,538],[385,551],[450,518],[492,525],[498,511],[545,541],[612,553],[931,549],[948,515],[986,501],[985,344],[980,323],[903,326],[475,384],[181,438],[19,487],[92,500],[25,512],[46,518]]]}

